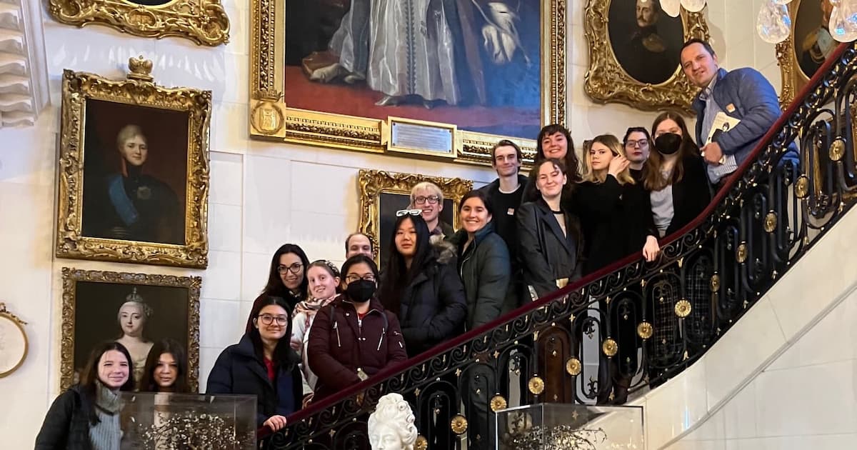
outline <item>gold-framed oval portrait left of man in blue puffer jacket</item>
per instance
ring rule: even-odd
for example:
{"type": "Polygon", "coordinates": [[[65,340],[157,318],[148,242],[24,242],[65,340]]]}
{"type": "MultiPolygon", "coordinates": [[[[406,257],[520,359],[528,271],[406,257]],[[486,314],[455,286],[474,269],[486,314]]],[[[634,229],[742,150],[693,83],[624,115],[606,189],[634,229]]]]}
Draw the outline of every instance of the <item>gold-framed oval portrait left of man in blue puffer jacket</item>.
{"type": "MultiPolygon", "coordinates": [[[[694,87],[682,73],[679,53],[681,45],[687,39],[697,38],[706,41],[709,39],[708,25],[705,23],[703,12],[690,13],[681,9],[681,31],[676,32],[678,19],[669,17],[660,9],[657,10],[655,21],[663,25],[672,24],[673,33],[662,40],[658,39],[655,45],[648,45],[650,41],[646,41],[643,43],[646,46],[642,48],[662,45],[657,50],[660,50],[665,61],[669,61],[669,66],[674,63],[674,70],[669,71],[667,75],[645,74],[640,78],[651,76],[650,81],[655,82],[643,82],[629,75],[627,63],[623,65],[619,62],[620,58],[617,58],[615,50],[615,45],[620,45],[618,48],[632,48],[630,45],[618,42],[623,31],[629,33],[632,37],[630,42],[633,43],[635,33],[639,33],[634,32],[634,28],[644,29],[635,19],[634,5],[635,0],[589,0],[586,4],[584,33],[589,43],[590,63],[584,77],[585,93],[596,103],[620,103],[640,111],[675,109],[689,113],[693,96],[698,93],[698,88],[694,87]],[[617,13],[620,13],[620,17],[627,17],[626,23],[620,28],[616,27],[617,23],[614,23],[614,28],[611,28],[610,17],[613,15],[615,20],[617,13]]],[[[654,26],[656,25],[655,22],[654,26]]],[[[633,53],[635,57],[644,55],[643,51],[633,53]]],[[[651,64],[650,61],[644,61],[644,63],[647,67],[658,66],[658,64],[651,64]]]]}

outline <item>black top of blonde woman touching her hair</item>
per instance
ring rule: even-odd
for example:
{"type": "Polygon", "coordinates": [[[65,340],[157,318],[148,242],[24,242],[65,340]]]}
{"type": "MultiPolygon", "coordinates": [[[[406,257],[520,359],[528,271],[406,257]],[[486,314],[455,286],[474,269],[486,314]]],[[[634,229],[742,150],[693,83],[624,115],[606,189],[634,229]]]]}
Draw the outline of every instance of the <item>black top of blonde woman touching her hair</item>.
{"type": "Polygon", "coordinates": [[[620,184],[611,175],[603,183],[580,183],[573,202],[586,242],[584,274],[642,255],[646,237],[657,237],[649,193],[638,183],[620,184]]]}

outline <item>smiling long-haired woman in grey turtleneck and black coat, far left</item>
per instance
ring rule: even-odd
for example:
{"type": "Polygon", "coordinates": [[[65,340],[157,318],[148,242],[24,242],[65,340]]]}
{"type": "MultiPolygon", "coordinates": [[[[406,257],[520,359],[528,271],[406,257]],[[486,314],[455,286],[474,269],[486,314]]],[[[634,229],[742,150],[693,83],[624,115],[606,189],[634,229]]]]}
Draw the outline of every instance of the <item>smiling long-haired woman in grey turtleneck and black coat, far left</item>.
{"type": "Polygon", "coordinates": [[[81,382],[60,394],[36,436],[36,450],[119,450],[123,430],[120,392],[134,389],[134,364],[122,344],[94,348],[81,382]]]}

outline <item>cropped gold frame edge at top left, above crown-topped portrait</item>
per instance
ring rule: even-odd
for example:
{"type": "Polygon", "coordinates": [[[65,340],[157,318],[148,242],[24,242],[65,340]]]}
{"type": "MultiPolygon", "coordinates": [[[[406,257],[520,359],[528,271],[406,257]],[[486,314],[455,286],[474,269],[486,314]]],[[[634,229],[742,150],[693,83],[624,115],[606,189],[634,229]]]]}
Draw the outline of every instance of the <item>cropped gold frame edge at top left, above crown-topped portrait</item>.
{"type": "Polygon", "coordinates": [[[144,38],[180,36],[197,45],[229,42],[229,17],[220,0],[175,0],[161,6],[123,0],[50,0],[57,21],[84,27],[104,25],[144,38]]]}

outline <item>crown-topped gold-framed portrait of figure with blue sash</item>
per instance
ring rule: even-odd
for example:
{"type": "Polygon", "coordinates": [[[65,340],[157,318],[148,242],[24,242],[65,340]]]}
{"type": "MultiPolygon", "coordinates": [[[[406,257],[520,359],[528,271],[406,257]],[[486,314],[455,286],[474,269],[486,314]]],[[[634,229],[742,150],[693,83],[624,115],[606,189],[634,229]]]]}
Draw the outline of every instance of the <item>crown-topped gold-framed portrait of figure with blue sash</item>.
{"type": "Polygon", "coordinates": [[[212,93],[161,87],[151,69],[140,57],[126,80],[63,72],[57,257],[207,267],[212,93]],[[123,135],[143,139],[139,161],[116,151],[123,135]]]}

